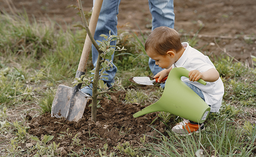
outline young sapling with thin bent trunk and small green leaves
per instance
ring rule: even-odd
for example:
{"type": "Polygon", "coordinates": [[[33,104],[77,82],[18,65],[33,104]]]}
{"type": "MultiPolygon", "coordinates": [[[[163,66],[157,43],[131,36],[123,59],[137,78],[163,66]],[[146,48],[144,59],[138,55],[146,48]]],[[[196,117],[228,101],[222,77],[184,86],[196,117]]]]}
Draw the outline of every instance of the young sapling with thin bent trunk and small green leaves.
{"type": "Polygon", "coordinates": [[[103,73],[103,72],[105,70],[113,68],[113,65],[111,64],[111,55],[113,55],[113,53],[115,51],[123,51],[126,49],[124,49],[124,47],[120,48],[118,46],[110,45],[110,43],[112,41],[115,41],[118,38],[118,36],[116,36],[116,35],[111,35],[111,31],[109,31],[109,37],[107,35],[103,35],[103,34],[100,35],[100,37],[104,37],[106,40],[102,40],[102,41],[97,40],[97,42],[100,43],[98,45],[89,30],[87,21],[85,19],[84,13],[83,13],[81,0],[78,0],[78,5],[79,5],[83,25],[85,26],[85,30],[87,31],[87,35],[91,39],[95,48],[98,50],[99,55],[97,58],[97,63],[96,63],[95,69],[90,71],[92,74],[89,75],[88,78],[86,78],[85,75],[82,75],[80,78],[75,78],[75,81],[72,83],[73,83],[73,86],[82,84],[82,87],[84,87],[84,86],[90,87],[89,85],[92,84],[93,95],[91,96],[91,99],[92,99],[91,120],[96,122],[97,106],[100,101],[99,95],[110,98],[110,96],[108,95],[108,91],[110,88],[124,89],[124,87],[121,85],[122,81],[119,80],[119,78],[117,78],[117,80],[114,83],[111,83],[112,87],[108,87],[107,84],[104,83],[104,81],[102,79],[108,80],[108,78],[106,77],[106,75],[108,75],[108,74],[103,73]]]}

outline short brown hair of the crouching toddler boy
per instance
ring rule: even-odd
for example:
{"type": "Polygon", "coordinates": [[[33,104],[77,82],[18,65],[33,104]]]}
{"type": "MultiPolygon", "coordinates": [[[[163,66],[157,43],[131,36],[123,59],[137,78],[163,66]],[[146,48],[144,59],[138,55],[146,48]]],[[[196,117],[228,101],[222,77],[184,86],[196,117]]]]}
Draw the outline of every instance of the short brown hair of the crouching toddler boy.
{"type": "Polygon", "coordinates": [[[155,51],[159,55],[166,55],[170,50],[178,52],[182,47],[179,33],[165,26],[155,28],[145,42],[145,51],[155,51]]]}

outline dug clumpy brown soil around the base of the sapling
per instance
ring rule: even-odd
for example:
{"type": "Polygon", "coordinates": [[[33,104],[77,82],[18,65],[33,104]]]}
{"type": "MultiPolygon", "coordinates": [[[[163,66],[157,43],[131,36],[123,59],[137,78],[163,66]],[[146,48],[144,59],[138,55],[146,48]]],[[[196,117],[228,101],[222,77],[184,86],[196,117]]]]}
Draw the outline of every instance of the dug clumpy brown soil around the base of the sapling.
{"type": "MultiPolygon", "coordinates": [[[[96,123],[91,121],[91,107],[86,106],[83,117],[78,122],[51,117],[50,113],[35,117],[29,123],[29,133],[39,139],[43,135],[53,135],[52,141],[69,153],[71,150],[80,152],[84,147],[97,150],[103,148],[106,143],[108,150],[113,152],[114,146],[119,143],[128,141],[132,146],[139,146],[140,138],[144,135],[147,135],[146,140],[150,141],[152,140],[150,135],[156,136],[156,130],[165,132],[166,126],[160,120],[155,120],[158,113],[134,118],[132,115],[146,106],[125,104],[123,102],[125,93],[121,91],[110,93],[110,95],[111,100],[101,100],[102,108],[98,109],[96,123]],[[76,134],[81,140],[80,146],[72,145],[72,139],[76,134]]],[[[87,102],[87,105],[89,104],[90,101],[87,102]]]]}

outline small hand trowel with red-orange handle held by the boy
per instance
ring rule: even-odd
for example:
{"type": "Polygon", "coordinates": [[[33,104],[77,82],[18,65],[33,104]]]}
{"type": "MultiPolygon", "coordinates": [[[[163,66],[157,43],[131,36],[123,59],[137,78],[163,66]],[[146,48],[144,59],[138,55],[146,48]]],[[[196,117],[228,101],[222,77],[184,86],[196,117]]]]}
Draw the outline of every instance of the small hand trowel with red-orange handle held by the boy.
{"type": "MultiPolygon", "coordinates": [[[[163,78],[161,82],[164,82],[167,80],[167,77],[163,78]]],[[[150,80],[149,77],[131,77],[129,79],[130,82],[137,83],[137,84],[143,84],[143,85],[151,85],[153,86],[153,83],[158,82],[158,78],[150,80]]],[[[159,82],[159,83],[161,83],[159,82]]]]}

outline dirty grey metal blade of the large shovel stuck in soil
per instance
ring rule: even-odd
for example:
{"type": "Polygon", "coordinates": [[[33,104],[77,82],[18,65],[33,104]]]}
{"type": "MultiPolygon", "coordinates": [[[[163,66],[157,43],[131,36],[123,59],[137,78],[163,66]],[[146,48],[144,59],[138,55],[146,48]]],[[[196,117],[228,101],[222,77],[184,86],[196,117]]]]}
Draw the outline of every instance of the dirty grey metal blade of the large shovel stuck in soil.
{"type": "MultiPolygon", "coordinates": [[[[74,87],[76,88],[76,87],[74,87]]],[[[59,85],[52,102],[52,117],[64,117],[67,120],[78,121],[82,118],[89,95],[80,89],[74,90],[68,86],[59,85]]]]}

